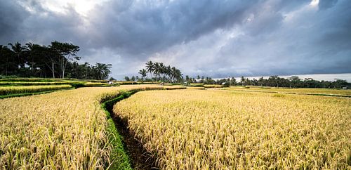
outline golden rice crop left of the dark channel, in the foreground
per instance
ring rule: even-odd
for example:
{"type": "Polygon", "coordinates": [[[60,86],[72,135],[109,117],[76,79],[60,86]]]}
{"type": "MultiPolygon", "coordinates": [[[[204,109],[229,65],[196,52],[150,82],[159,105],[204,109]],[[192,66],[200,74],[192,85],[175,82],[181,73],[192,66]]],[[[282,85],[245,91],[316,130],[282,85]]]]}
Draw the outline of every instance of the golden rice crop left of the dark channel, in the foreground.
{"type": "Polygon", "coordinates": [[[111,146],[100,103],[121,90],[89,87],[0,100],[1,169],[104,169],[111,146]]]}

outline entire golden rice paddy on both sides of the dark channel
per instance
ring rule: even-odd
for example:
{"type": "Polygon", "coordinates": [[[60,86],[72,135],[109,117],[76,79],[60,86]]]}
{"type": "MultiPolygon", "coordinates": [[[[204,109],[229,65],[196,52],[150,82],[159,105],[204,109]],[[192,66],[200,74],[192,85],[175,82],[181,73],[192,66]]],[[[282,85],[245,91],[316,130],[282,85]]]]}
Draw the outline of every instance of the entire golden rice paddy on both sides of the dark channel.
{"type": "Polygon", "coordinates": [[[350,98],[159,85],[1,86],[0,92],[58,89],[68,90],[0,100],[1,169],[131,169],[122,137],[100,104],[138,89],[152,91],[119,101],[113,111],[159,169],[351,166],[350,98]]]}

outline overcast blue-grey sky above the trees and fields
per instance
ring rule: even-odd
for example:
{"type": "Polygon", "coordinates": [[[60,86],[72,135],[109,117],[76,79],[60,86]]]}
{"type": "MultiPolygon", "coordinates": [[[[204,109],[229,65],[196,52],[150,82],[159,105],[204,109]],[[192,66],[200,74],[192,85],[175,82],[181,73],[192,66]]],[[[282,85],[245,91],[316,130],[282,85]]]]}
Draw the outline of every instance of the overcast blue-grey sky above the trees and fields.
{"type": "Polygon", "coordinates": [[[211,77],[351,72],[350,0],[0,0],[0,44],[81,47],[137,75],[148,60],[211,77]]]}

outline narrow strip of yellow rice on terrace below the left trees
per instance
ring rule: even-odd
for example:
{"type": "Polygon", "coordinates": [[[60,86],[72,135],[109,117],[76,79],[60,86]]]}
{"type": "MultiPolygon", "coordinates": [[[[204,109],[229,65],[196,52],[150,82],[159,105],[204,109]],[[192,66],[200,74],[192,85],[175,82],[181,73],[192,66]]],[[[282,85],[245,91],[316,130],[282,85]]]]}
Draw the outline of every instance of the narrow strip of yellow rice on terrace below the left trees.
{"type": "Polygon", "coordinates": [[[0,86],[0,96],[16,93],[37,93],[42,91],[55,91],[61,89],[70,89],[70,85],[59,86],[0,86]]]}

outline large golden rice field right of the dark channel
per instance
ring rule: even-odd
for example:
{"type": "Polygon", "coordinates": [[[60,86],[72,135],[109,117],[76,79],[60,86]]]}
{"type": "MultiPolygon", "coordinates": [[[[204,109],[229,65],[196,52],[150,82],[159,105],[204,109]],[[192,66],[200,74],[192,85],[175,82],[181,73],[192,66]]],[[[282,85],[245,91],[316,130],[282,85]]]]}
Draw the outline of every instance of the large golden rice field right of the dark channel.
{"type": "Polygon", "coordinates": [[[114,105],[161,169],[350,169],[351,100],[141,91],[114,105]]]}

